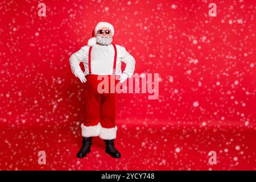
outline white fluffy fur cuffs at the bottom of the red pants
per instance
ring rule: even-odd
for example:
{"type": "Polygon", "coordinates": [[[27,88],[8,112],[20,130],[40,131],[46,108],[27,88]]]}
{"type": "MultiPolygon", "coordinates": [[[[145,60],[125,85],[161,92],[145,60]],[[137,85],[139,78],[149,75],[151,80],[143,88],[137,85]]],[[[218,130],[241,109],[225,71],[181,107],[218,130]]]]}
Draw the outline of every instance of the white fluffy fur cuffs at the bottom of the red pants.
{"type": "Polygon", "coordinates": [[[100,137],[105,140],[117,138],[117,126],[108,129],[102,127],[100,122],[95,126],[84,126],[84,123],[82,123],[81,129],[82,137],[100,137]]]}

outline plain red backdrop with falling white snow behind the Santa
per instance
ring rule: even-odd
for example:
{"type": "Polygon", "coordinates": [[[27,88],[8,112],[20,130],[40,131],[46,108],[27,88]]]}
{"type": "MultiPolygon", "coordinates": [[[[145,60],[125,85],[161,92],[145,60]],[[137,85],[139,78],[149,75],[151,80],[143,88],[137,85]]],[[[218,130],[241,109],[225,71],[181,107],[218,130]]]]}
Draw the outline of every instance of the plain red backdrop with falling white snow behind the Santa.
{"type": "Polygon", "coordinates": [[[256,3],[214,1],[210,17],[210,2],[1,1],[0,169],[255,170],[256,3]],[[159,98],[120,94],[122,158],[94,138],[77,159],[86,98],[69,57],[100,21],[113,24],[135,73],[159,73],[159,98]]]}

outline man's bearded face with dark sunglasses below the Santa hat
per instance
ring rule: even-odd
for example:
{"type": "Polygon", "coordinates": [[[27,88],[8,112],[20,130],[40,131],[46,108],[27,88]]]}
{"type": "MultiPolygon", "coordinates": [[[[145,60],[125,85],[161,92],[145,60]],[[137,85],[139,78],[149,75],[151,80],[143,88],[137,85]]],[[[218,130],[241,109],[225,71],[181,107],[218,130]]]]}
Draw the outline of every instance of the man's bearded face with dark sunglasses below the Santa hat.
{"type": "Polygon", "coordinates": [[[102,27],[96,32],[96,41],[98,44],[108,46],[112,43],[112,32],[107,27],[102,27]]]}

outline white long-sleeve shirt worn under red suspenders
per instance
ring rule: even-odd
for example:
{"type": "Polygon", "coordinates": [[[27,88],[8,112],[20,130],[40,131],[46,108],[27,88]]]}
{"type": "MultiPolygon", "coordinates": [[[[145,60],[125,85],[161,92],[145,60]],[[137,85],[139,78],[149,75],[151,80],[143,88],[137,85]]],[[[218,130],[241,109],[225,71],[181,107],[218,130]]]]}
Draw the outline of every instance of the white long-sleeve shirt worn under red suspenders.
{"type": "MultiPolygon", "coordinates": [[[[133,76],[135,69],[135,59],[126,51],[125,47],[115,44],[117,47],[117,63],[115,67],[115,75],[121,75],[121,62],[126,64],[123,73],[127,73],[129,78],[133,76]]],[[[91,71],[95,75],[112,75],[114,64],[114,47],[113,45],[101,46],[96,44],[93,46],[90,57],[91,71]]],[[[77,77],[77,73],[82,72],[80,63],[84,63],[85,75],[89,74],[88,67],[89,46],[81,47],[81,49],[73,53],[69,59],[72,73],[77,77]]]]}

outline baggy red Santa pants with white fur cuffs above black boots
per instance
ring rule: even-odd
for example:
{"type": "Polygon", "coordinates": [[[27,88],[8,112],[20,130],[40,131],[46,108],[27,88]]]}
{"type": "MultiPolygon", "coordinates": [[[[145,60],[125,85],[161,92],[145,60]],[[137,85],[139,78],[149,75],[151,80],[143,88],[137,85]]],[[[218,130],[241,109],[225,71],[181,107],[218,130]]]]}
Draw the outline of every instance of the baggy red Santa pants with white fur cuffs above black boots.
{"type": "Polygon", "coordinates": [[[82,137],[100,137],[115,139],[115,75],[86,75],[85,85],[85,121],[81,125],[82,137]],[[100,79],[100,80],[99,80],[100,79]],[[103,85],[104,82],[104,86],[103,85]],[[112,87],[111,87],[112,86],[112,87]],[[103,90],[105,93],[102,93],[103,90]],[[111,90],[112,89],[112,90],[111,90]]]}

